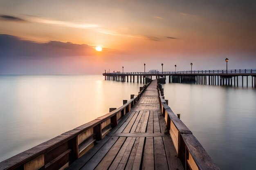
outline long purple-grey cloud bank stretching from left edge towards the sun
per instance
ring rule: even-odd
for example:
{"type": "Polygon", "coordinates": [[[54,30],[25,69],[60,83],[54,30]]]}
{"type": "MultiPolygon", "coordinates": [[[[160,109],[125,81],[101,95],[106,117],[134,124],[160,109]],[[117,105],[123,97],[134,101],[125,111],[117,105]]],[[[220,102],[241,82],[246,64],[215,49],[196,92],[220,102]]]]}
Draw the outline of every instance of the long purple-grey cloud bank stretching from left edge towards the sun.
{"type": "Polygon", "coordinates": [[[93,52],[93,47],[87,44],[72,44],[58,41],[38,43],[20,40],[12,35],[0,34],[0,60],[8,57],[38,59],[45,57],[87,56],[93,52]]]}

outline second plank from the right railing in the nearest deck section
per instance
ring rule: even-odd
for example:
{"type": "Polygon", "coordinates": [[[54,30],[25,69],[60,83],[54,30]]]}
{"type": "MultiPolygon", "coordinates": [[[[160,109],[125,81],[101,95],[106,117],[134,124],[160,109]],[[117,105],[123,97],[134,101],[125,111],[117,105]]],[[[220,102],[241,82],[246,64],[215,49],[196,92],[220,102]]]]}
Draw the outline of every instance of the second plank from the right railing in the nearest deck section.
{"type": "Polygon", "coordinates": [[[162,137],[154,137],[154,157],[156,170],[168,170],[162,137]]]}

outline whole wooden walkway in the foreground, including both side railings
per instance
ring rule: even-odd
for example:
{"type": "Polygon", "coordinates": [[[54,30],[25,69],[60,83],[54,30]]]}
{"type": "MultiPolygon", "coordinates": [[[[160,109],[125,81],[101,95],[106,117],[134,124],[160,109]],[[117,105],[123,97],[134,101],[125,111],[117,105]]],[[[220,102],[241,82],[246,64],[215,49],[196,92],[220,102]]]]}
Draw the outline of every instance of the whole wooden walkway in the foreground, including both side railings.
{"type": "Polygon", "coordinates": [[[0,163],[0,170],[219,170],[157,80],[120,108],[0,163]]]}

